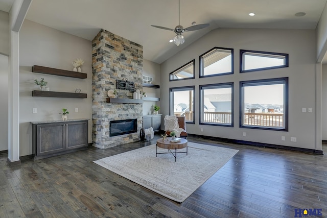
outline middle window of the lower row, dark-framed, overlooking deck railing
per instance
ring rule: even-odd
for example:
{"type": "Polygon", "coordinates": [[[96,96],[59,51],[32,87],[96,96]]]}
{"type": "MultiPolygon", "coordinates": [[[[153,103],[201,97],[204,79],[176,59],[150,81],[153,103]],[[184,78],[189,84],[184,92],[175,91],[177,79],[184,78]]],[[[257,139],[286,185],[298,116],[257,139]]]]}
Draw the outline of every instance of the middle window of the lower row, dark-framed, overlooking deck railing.
{"type": "Polygon", "coordinates": [[[233,83],[200,86],[200,124],[233,126],[233,83]]]}

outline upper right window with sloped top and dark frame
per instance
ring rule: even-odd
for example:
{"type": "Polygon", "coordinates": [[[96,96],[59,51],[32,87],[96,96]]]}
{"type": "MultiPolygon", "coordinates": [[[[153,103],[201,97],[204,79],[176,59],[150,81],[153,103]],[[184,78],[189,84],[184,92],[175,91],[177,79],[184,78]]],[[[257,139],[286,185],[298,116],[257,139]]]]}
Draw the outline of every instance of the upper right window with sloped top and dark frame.
{"type": "Polygon", "coordinates": [[[288,67],[288,54],[240,50],[240,72],[288,67]]]}

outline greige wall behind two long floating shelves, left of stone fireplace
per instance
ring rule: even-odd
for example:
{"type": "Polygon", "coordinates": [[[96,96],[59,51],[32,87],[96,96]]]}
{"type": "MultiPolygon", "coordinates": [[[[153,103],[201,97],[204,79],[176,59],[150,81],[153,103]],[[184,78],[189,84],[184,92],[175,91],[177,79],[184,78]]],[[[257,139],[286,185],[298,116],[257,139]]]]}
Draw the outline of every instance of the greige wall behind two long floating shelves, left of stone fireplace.
{"type": "Polygon", "coordinates": [[[68,119],[88,118],[88,142],[92,130],[92,68],[91,41],[25,20],[19,32],[20,58],[20,156],[32,154],[31,121],[58,120],[62,108],[69,111],[68,119]],[[32,72],[33,65],[72,70],[72,62],[84,60],[82,72],[87,79],[77,79],[32,72]],[[87,99],[32,97],[39,87],[34,79],[44,78],[51,91],[75,92],[80,88],[87,99]],[[37,108],[37,113],[32,113],[37,108]],[[75,112],[75,108],[79,112],[75,112]]]}

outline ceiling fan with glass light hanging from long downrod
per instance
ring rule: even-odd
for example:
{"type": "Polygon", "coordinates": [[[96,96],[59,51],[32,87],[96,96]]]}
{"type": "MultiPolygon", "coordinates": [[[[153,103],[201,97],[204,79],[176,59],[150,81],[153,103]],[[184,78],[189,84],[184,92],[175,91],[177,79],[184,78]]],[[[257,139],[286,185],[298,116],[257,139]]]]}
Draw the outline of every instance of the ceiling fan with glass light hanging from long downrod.
{"type": "MultiPolygon", "coordinates": [[[[199,24],[199,25],[193,25],[191,27],[184,29],[183,26],[180,26],[179,16],[180,16],[180,10],[179,10],[179,0],[178,0],[178,26],[176,26],[175,29],[171,29],[171,28],[167,28],[167,27],[160,27],[160,26],[155,26],[155,25],[151,25],[151,26],[160,28],[160,29],[164,29],[164,30],[174,31],[176,33],[176,36],[174,36],[173,41],[177,46],[184,43],[184,36],[182,35],[183,32],[200,30],[200,29],[203,29],[203,28],[206,28],[209,26],[209,23],[203,23],[203,24],[199,24]]],[[[195,22],[193,22],[193,23],[195,23],[195,22]]]]}

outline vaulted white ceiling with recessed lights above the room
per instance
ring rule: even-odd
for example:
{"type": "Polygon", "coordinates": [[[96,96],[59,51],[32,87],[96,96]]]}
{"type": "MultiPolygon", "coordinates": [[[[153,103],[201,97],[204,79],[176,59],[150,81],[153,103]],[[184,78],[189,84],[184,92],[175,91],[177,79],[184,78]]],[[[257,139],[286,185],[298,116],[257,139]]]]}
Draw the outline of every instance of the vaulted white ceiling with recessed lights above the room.
{"type": "MultiPolygon", "coordinates": [[[[0,0],[9,11],[14,0],[0,0]]],[[[105,29],[143,45],[144,58],[162,63],[216,28],[315,29],[327,0],[180,0],[180,25],[209,23],[185,32],[185,43],[169,43],[178,25],[178,0],[32,0],[27,19],[92,40],[105,29]],[[251,17],[248,14],[255,13],[251,17]],[[297,12],[306,15],[297,17],[297,12]]]]}

